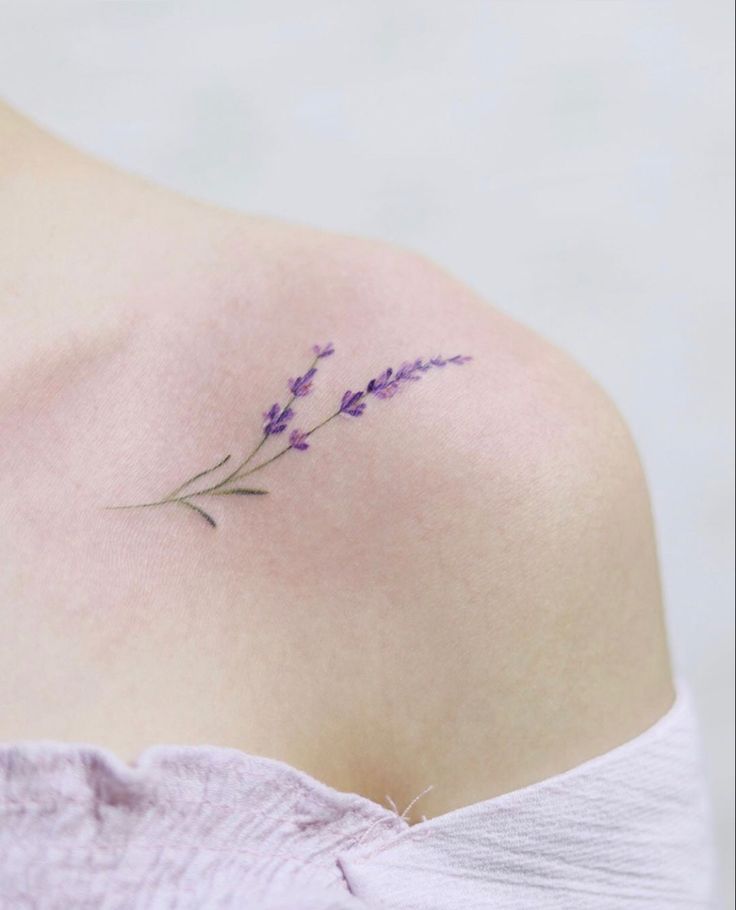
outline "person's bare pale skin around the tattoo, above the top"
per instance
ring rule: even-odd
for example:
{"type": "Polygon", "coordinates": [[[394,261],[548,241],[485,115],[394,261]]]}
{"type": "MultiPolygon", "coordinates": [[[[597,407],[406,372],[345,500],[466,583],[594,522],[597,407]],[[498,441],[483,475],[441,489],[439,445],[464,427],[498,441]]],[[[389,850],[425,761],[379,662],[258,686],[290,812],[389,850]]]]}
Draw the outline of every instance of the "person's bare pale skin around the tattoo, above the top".
{"type": "Polygon", "coordinates": [[[152,187],[0,116],[0,738],[210,743],[433,817],[673,699],[646,484],[569,358],[422,258],[152,187]],[[472,354],[216,502],[158,498],[385,367],[472,354]],[[267,482],[266,482],[267,481],[267,482]]]}

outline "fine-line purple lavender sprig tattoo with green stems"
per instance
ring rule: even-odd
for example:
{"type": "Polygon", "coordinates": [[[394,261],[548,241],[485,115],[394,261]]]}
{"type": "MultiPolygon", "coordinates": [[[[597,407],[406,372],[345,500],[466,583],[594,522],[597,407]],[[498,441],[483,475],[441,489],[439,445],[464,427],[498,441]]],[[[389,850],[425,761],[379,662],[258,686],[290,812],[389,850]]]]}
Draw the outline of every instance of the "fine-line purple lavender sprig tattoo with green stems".
{"type": "Polygon", "coordinates": [[[258,461],[257,456],[269,440],[274,436],[281,436],[289,429],[289,425],[295,416],[293,408],[294,403],[297,399],[304,398],[310,394],[314,386],[314,377],[318,372],[318,364],[321,360],[331,357],[334,353],[335,348],[332,342],[328,342],[325,345],[315,344],[312,347],[313,359],[304,372],[304,375],[289,379],[287,387],[291,394],[283,406],[279,402],[275,402],[267,411],[264,411],[261,438],[250,454],[236,465],[236,467],[233,468],[230,465],[231,456],[227,455],[211,468],[200,471],[198,474],[185,480],[184,483],[180,484],[161,499],[157,499],[153,502],[136,503],[134,505],[107,506],[107,508],[147,509],[153,508],[154,506],[180,505],[195,512],[211,525],[211,527],[216,528],[217,522],[215,519],[209,512],[205,511],[198,502],[192,502],[192,500],[211,496],[263,496],[268,493],[268,490],[251,487],[249,484],[244,486],[242,481],[244,481],[246,477],[250,477],[257,471],[261,471],[268,467],[268,465],[273,464],[274,461],[282,458],[287,452],[305,452],[310,447],[310,436],[327,426],[328,423],[331,423],[337,417],[361,417],[365,412],[366,405],[371,396],[378,399],[393,398],[393,396],[401,391],[407,383],[418,382],[428,370],[442,368],[448,364],[462,366],[469,360],[472,360],[471,357],[464,354],[455,354],[453,357],[442,357],[438,355],[429,360],[417,359],[406,361],[396,370],[389,367],[379,376],[375,377],[375,379],[371,379],[365,389],[356,392],[352,389],[348,389],[340,399],[337,409],[310,429],[302,430],[296,427],[292,428],[288,435],[288,443],[285,444],[283,448],[279,449],[269,458],[258,461]],[[253,464],[254,461],[257,462],[255,465],[253,464]],[[228,465],[227,468],[225,467],[226,465],[228,465]],[[210,475],[215,474],[220,468],[225,471],[225,476],[216,483],[212,483],[210,475]],[[209,479],[205,481],[204,478],[209,479]],[[200,485],[200,488],[196,489],[195,487],[198,481],[202,481],[204,486],[200,485]]]}

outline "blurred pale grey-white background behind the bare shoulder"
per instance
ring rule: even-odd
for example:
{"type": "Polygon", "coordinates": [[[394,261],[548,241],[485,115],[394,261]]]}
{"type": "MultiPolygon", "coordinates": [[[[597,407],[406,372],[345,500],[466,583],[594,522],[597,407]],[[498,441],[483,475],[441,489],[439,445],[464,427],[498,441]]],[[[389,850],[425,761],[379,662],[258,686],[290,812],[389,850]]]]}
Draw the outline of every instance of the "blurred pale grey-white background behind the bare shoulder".
{"type": "Polygon", "coordinates": [[[0,92],[44,125],[191,195],[418,249],[612,393],[650,478],[727,899],[732,35],[728,0],[0,7],[0,92]]]}

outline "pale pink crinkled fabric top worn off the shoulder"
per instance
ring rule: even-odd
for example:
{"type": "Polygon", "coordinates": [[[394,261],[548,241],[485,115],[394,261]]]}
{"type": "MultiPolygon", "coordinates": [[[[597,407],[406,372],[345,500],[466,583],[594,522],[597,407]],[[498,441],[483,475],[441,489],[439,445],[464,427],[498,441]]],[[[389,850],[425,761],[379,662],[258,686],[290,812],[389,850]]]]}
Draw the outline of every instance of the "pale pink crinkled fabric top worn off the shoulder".
{"type": "Polygon", "coordinates": [[[0,800],[3,910],[715,906],[682,685],[625,745],[412,826],[283,762],[209,746],[157,746],[131,767],[91,746],[6,745],[0,800]]]}

